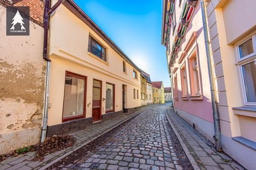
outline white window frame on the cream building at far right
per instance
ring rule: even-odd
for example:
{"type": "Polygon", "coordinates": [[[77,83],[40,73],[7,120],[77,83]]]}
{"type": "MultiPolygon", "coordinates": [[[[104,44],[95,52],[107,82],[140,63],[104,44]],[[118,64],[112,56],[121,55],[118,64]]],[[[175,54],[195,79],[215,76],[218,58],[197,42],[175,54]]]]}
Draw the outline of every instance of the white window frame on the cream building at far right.
{"type": "Polygon", "coordinates": [[[254,61],[254,63],[256,64],[256,34],[255,33],[254,33],[254,35],[250,35],[250,37],[247,37],[246,39],[244,39],[244,40],[240,41],[238,44],[236,44],[236,61],[237,61],[236,65],[237,65],[238,72],[239,72],[240,86],[242,89],[243,104],[244,104],[244,106],[256,106],[256,102],[247,101],[245,82],[244,82],[244,73],[243,73],[243,68],[242,68],[243,65],[251,63],[252,61],[254,61]],[[252,39],[252,46],[253,46],[254,53],[241,58],[240,52],[239,52],[239,46],[242,45],[243,43],[245,43],[249,39],[252,39]]]}

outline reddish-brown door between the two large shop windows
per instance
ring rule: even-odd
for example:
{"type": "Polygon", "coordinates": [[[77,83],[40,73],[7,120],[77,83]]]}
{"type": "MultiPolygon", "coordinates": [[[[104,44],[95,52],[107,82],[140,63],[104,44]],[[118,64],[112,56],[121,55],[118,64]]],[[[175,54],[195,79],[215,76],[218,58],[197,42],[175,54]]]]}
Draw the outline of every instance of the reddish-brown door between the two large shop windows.
{"type": "Polygon", "coordinates": [[[101,120],[101,81],[93,80],[92,121],[101,120]]]}

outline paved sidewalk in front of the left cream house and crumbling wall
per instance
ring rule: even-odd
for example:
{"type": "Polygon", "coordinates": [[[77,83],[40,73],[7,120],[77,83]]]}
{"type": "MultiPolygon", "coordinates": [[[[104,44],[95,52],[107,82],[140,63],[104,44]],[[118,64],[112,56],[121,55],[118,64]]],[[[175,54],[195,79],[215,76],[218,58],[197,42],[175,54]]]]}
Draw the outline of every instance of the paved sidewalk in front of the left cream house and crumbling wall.
{"type": "Polygon", "coordinates": [[[44,157],[44,160],[42,160],[42,162],[39,162],[39,161],[33,162],[33,158],[35,157],[35,152],[28,152],[27,154],[24,154],[24,155],[19,155],[17,157],[10,157],[8,159],[3,160],[2,162],[0,162],[0,170],[2,169],[6,169],[6,170],[45,169],[51,166],[52,164],[58,162],[62,158],[65,158],[66,156],[70,155],[71,153],[78,150],[79,148],[82,148],[87,143],[90,143],[94,139],[97,139],[102,134],[107,133],[108,131],[114,129],[116,126],[137,116],[138,114],[145,111],[149,107],[148,106],[140,107],[135,112],[124,113],[113,119],[94,124],[82,131],[78,131],[73,134],[70,134],[77,139],[75,142],[75,145],[67,149],[63,149],[58,152],[46,155],[44,157]]]}

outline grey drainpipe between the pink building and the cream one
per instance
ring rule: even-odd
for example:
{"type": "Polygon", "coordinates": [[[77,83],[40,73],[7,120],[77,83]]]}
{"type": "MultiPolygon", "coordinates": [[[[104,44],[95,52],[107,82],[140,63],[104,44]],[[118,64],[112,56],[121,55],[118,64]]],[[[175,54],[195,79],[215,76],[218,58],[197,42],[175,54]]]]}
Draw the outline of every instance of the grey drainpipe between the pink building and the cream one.
{"type": "Polygon", "coordinates": [[[215,88],[214,88],[211,53],[210,53],[210,41],[209,41],[209,33],[208,33],[207,20],[206,20],[205,0],[201,0],[201,9],[202,9],[204,42],[205,42],[205,49],[206,49],[207,66],[208,66],[210,88],[211,88],[213,124],[214,124],[214,133],[215,133],[215,135],[213,136],[213,139],[215,140],[216,150],[222,151],[221,133],[220,133],[220,118],[219,118],[219,112],[218,112],[218,105],[217,105],[217,101],[216,101],[216,97],[215,97],[215,88]]]}

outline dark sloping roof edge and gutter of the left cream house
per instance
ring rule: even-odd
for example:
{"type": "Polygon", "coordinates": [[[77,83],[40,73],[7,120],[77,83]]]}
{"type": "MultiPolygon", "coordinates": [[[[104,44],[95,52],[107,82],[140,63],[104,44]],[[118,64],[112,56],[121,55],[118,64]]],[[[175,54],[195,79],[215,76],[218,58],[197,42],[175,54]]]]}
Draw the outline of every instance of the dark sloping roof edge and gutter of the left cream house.
{"type": "Polygon", "coordinates": [[[133,63],[133,61],[111,40],[105,32],[103,32],[99,26],[92,21],[92,19],[79,7],[73,0],[67,0],[63,2],[63,5],[68,8],[74,15],[77,16],[81,21],[88,25],[95,33],[97,33],[100,38],[102,38],[106,43],[115,50],[127,63],[131,64],[137,71],[141,69],[133,63]]]}

